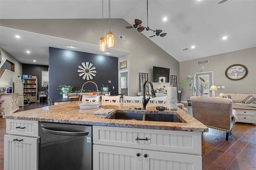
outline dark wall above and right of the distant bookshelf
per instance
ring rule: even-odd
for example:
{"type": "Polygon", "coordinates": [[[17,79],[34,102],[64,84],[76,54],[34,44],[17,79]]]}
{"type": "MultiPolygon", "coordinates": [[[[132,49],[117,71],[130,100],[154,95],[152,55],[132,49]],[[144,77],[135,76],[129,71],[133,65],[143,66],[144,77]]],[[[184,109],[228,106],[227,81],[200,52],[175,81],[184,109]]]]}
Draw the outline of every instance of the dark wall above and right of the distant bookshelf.
{"type": "Polygon", "coordinates": [[[48,71],[48,65],[22,64],[22,74],[33,75],[37,77],[37,91],[44,91],[42,87],[42,71],[48,71]]]}

